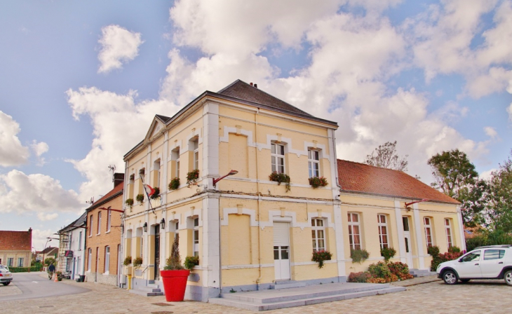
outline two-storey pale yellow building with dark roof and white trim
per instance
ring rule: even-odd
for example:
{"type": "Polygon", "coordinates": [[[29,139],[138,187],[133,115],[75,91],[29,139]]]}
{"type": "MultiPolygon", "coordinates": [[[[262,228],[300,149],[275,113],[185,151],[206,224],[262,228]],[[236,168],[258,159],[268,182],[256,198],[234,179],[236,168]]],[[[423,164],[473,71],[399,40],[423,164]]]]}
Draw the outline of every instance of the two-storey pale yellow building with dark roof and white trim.
{"type": "Polygon", "coordinates": [[[134,204],[124,205],[123,257],[142,257],[132,287],[159,283],[175,234],[182,261],[199,257],[187,299],[269,289],[276,280],[344,282],[335,130],[337,123],[242,81],[199,95],[172,118],[156,115],[124,156],[123,197],[134,204]],[[231,170],[238,173],[224,177],[231,170]],[[290,177],[290,191],[271,181],[274,171],[290,177]],[[314,189],[310,177],[328,185],[314,189]],[[143,182],[159,187],[161,199],[148,201],[143,182]],[[315,250],[332,252],[321,269],[311,261],[315,250]]]}

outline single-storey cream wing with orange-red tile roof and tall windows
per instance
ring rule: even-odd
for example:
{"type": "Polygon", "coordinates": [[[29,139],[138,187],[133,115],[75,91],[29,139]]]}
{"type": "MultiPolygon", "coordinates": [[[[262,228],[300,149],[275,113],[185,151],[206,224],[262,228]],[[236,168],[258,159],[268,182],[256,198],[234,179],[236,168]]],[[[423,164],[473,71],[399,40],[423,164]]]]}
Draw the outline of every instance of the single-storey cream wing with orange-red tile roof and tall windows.
{"type": "Polygon", "coordinates": [[[430,268],[430,246],[442,253],[451,246],[466,250],[457,200],[398,170],[342,160],[337,166],[345,257],[351,249],[370,253],[365,263],[346,264],[346,273],[382,260],[382,247],[393,247],[394,260],[419,269],[430,268]]]}

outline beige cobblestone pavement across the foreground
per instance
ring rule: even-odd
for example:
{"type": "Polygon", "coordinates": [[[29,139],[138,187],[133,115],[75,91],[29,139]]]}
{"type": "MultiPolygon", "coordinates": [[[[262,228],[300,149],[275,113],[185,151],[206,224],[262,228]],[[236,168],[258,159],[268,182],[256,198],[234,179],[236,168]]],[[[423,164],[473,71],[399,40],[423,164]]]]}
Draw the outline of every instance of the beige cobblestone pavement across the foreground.
{"type": "MultiPolygon", "coordinates": [[[[410,280],[409,284],[416,284],[409,285],[405,292],[284,308],[265,313],[511,313],[512,287],[508,287],[502,280],[480,280],[449,286],[435,279],[431,276],[410,280]],[[428,282],[429,280],[435,281],[428,282]],[[426,283],[419,284],[421,282],[426,283]]],[[[4,313],[255,313],[195,301],[167,303],[164,296],[144,297],[131,294],[125,289],[92,282],[67,280],[55,282],[55,285],[81,285],[91,291],[50,300],[6,301],[2,302],[1,310],[4,313]],[[170,306],[158,306],[154,303],[170,306]]]]}

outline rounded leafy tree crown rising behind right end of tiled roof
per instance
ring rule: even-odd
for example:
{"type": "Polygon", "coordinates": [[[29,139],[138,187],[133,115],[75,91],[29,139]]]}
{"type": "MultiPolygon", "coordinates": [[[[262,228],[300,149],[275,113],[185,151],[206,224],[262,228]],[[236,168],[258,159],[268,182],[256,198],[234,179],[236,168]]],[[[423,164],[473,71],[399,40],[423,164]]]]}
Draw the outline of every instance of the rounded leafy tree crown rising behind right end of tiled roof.
{"type": "Polygon", "coordinates": [[[460,200],[459,191],[469,189],[478,178],[475,166],[469,161],[466,153],[459,149],[437,153],[427,163],[431,166],[432,175],[436,180],[431,186],[456,200],[460,200]]]}

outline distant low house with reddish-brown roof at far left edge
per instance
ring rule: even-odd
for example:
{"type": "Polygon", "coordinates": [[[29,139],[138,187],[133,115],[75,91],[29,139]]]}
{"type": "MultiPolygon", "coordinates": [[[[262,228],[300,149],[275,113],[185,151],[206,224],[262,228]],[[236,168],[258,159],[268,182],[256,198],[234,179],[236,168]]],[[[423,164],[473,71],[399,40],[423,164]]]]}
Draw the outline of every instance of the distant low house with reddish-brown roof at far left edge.
{"type": "Polygon", "coordinates": [[[29,267],[32,261],[32,228],[29,231],[0,231],[0,264],[29,267]]]}

